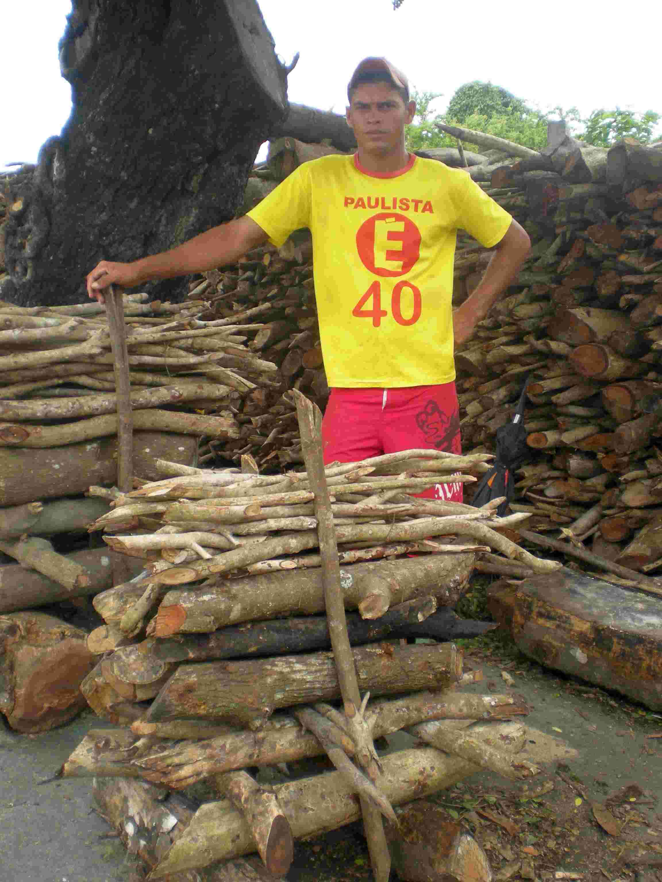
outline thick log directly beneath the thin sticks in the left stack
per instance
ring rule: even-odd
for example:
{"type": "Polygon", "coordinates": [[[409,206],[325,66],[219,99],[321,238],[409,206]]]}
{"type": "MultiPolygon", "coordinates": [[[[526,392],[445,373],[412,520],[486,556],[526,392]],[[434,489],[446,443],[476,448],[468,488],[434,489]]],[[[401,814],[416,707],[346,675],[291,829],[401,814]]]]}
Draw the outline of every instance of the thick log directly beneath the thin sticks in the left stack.
{"type": "MultiPolygon", "coordinates": [[[[157,458],[190,465],[195,461],[197,446],[197,438],[192,435],[136,432],[134,474],[147,480],[158,479],[160,475],[154,467],[157,458]]],[[[84,493],[92,484],[113,483],[117,477],[116,450],[115,437],[38,450],[0,447],[0,505],[73,496],[84,493]]]]}

